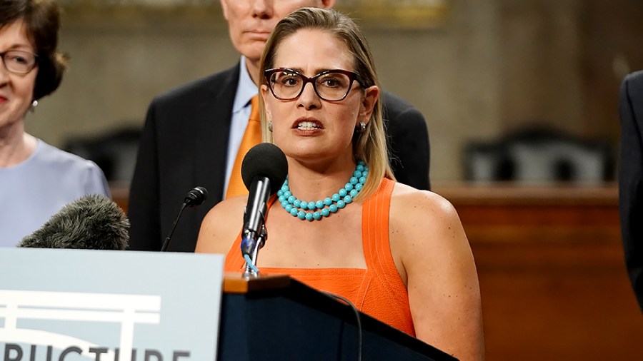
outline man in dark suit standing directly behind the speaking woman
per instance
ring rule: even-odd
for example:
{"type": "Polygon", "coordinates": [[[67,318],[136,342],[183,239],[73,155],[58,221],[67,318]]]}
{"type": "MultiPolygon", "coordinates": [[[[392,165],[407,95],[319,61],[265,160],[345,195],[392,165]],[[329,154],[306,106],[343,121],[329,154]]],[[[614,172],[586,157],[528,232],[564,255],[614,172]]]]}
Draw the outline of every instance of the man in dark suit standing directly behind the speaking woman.
{"type": "MultiPolygon", "coordinates": [[[[270,31],[291,11],[334,2],[221,0],[241,61],[161,94],[149,106],[129,194],[130,249],[160,250],[186,193],[199,185],[208,198],[181,216],[168,248],[194,251],[201,220],[226,194],[270,31]]],[[[429,189],[429,135],[422,113],[391,93],[384,92],[382,104],[394,175],[429,189]]]]}

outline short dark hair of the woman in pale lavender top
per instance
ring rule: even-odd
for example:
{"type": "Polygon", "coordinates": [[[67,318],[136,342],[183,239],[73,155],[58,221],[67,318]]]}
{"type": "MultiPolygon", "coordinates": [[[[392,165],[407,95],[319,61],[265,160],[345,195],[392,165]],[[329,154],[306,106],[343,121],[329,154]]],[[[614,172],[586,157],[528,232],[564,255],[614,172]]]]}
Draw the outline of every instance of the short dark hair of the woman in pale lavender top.
{"type": "Polygon", "coordinates": [[[58,51],[60,6],[56,0],[0,1],[0,29],[24,21],[26,36],[38,55],[34,100],[53,93],[67,68],[69,57],[58,51]]]}

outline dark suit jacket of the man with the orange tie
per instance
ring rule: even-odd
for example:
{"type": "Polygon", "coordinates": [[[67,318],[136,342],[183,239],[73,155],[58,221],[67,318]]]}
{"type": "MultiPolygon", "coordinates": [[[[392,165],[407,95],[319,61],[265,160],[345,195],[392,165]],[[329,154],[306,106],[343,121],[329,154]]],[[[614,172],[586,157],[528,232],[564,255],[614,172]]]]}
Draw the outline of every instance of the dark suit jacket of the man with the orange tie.
{"type": "MultiPolygon", "coordinates": [[[[154,98],[147,111],[129,193],[130,249],[160,250],[186,193],[208,190],[181,215],[168,250],[193,252],[201,220],[223,199],[232,103],[239,64],[154,98]]],[[[429,189],[429,135],[422,113],[384,93],[396,178],[429,189]]]]}

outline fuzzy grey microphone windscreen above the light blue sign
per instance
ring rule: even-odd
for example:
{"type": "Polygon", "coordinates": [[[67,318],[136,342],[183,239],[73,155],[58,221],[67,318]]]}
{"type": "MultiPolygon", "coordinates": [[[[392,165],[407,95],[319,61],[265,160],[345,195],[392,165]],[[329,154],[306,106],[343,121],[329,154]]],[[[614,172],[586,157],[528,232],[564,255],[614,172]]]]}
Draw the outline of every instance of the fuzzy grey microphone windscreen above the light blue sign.
{"type": "Polygon", "coordinates": [[[84,195],[52,215],[18,247],[124,250],[129,247],[128,230],[129,220],[113,200],[84,195]]]}

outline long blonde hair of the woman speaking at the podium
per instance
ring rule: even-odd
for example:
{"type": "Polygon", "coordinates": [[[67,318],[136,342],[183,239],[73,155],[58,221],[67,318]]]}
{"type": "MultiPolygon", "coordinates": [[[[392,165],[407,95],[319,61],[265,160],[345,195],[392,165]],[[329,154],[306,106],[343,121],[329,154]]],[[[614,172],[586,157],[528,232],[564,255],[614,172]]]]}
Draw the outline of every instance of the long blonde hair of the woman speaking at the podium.
{"type": "MultiPolygon", "coordinates": [[[[279,44],[287,37],[295,34],[301,29],[319,29],[327,31],[346,44],[347,49],[353,55],[354,71],[357,73],[357,80],[364,88],[378,86],[377,72],[373,56],[364,34],[355,22],[344,14],[332,9],[321,8],[302,8],[296,10],[281,19],[270,38],[266,43],[264,54],[261,56],[261,69],[259,78],[261,85],[267,85],[264,76],[266,69],[274,68],[274,58],[276,49],[279,44]]],[[[263,99],[259,97],[261,106],[261,123],[263,126],[264,141],[273,143],[272,133],[268,130],[266,124],[266,109],[263,99]]],[[[394,180],[389,157],[387,154],[386,134],[384,133],[384,122],[382,120],[382,103],[375,103],[373,113],[367,124],[366,129],[361,133],[356,133],[353,137],[353,154],[356,161],[362,160],[369,166],[369,176],[367,177],[364,188],[357,195],[355,200],[369,198],[379,188],[380,180],[383,177],[394,180]]]]}

